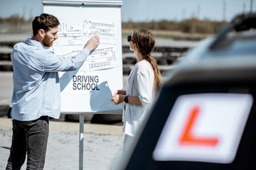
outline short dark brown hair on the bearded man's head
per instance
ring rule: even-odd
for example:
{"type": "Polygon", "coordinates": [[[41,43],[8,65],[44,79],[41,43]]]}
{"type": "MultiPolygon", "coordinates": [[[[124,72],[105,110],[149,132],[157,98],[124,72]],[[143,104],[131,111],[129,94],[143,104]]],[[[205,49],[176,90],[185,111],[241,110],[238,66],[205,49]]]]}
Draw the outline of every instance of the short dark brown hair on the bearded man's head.
{"type": "Polygon", "coordinates": [[[60,22],[55,16],[48,13],[42,13],[40,16],[36,16],[32,22],[33,35],[36,35],[40,29],[47,32],[50,28],[54,28],[59,24],[60,22]]]}

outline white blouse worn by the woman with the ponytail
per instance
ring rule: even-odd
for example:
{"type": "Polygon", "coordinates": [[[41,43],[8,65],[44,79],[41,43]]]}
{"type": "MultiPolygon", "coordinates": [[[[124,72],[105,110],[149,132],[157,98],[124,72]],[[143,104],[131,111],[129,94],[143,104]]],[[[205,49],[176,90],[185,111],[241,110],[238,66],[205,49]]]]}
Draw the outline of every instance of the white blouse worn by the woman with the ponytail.
{"type": "Polygon", "coordinates": [[[135,64],[129,74],[126,96],[139,96],[139,101],[142,103],[142,106],[126,103],[123,112],[123,132],[134,136],[154,100],[154,70],[146,60],[135,64]]]}

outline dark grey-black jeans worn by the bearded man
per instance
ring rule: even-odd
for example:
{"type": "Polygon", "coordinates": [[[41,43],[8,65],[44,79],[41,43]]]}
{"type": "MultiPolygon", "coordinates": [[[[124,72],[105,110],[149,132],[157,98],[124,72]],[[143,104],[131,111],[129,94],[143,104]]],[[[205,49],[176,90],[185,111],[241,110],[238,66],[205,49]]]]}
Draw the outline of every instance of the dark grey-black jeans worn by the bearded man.
{"type": "Polygon", "coordinates": [[[27,170],[43,169],[49,134],[48,116],[33,121],[13,120],[11,153],[6,169],[21,169],[27,157],[27,170]]]}

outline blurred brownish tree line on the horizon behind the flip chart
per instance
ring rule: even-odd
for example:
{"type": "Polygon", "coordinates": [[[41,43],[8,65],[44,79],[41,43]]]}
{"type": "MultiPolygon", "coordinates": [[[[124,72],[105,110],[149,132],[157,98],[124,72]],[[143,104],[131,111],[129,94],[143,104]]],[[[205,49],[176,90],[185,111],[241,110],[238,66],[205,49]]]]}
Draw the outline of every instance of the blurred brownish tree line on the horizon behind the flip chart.
{"type": "MultiPolygon", "coordinates": [[[[9,18],[0,18],[0,33],[3,30],[8,33],[23,33],[31,31],[33,18],[24,18],[18,14],[9,18]]],[[[122,22],[123,29],[146,28],[149,30],[174,30],[182,33],[215,34],[226,24],[225,21],[210,21],[208,19],[188,18],[183,21],[149,21],[149,22],[122,22]]]]}

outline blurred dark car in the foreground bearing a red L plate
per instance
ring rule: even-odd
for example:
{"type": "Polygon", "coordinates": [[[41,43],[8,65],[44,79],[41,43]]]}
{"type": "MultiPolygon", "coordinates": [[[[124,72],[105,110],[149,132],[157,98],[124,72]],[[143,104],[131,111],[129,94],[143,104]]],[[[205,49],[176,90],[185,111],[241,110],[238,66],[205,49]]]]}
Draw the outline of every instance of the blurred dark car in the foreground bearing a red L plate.
{"type": "Polygon", "coordinates": [[[188,50],[116,169],[256,169],[256,13],[188,50]]]}

